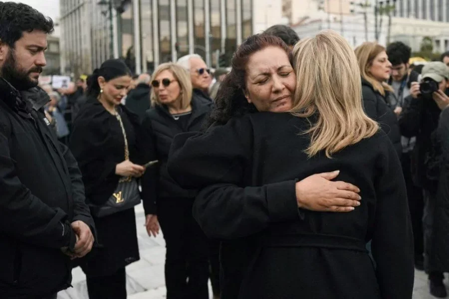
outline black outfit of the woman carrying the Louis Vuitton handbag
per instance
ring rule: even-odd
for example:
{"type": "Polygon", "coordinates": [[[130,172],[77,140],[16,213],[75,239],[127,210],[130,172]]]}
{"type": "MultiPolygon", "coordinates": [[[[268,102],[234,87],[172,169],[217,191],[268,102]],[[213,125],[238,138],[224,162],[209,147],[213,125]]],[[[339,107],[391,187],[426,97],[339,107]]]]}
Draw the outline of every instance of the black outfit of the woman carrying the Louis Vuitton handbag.
{"type": "MultiPolygon", "coordinates": [[[[118,106],[128,139],[130,160],[144,164],[138,143],[138,117],[118,106]]],[[[79,111],[70,140],[78,160],[90,203],[102,205],[117,187],[120,176],[115,166],[125,159],[125,144],[117,118],[96,99],[89,99],[79,111]]],[[[87,276],[108,276],[139,260],[134,209],[96,218],[97,242],[81,267],[87,276]]]]}

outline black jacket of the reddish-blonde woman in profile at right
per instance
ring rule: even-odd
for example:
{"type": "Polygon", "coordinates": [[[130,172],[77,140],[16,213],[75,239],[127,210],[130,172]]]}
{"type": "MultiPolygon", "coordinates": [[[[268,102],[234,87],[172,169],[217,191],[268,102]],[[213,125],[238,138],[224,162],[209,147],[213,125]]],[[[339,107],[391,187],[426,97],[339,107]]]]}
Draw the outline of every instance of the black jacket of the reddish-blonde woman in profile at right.
{"type": "Polygon", "coordinates": [[[387,101],[386,96],[382,96],[375,91],[373,86],[366,80],[362,79],[362,99],[365,113],[373,120],[379,123],[382,130],[387,133],[393,143],[398,156],[402,155],[401,131],[399,130],[398,118],[393,112],[395,107],[387,101]]]}

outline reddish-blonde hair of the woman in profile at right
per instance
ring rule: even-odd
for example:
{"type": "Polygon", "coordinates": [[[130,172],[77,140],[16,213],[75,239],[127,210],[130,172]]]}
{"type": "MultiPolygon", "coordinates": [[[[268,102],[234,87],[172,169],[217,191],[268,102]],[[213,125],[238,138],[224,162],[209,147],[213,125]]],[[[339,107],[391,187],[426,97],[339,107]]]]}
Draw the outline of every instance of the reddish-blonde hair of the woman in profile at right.
{"type": "Polygon", "coordinates": [[[375,91],[385,96],[385,91],[393,91],[393,87],[386,82],[380,82],[370,73],[369,69],[373,65],[373,61],[379,53],[385,51],[385,47],[377,42],[367,41],[358,46],[355,50],[357,61],[359,62],[359,69],[362,78],[368,81],[375,91]]]}

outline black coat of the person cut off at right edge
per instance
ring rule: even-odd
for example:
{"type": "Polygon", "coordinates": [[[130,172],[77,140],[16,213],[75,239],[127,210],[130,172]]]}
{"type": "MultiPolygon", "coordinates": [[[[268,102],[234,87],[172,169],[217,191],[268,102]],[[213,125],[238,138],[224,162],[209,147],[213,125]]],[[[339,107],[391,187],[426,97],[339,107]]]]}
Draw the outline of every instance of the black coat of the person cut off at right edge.
{"type": "Polygon", "coordinates": [[[449,109],[441,113],[437,129],[442,163],[433,213],[431,234],[426,248],[427,267],[432,271],[449,272],[449,109]]]}

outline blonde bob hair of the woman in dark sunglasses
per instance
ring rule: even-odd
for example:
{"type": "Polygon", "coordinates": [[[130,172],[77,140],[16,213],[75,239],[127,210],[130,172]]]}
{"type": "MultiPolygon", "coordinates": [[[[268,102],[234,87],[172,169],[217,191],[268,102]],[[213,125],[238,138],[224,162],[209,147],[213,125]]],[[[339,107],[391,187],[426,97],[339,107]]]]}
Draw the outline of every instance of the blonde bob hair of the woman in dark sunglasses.
{"type": "MultiPolygon", "coordinates": [[[[151,76],[151,82],[155,80],[155,78],[162,73],[163,71],[170,71],[173,74],[175,80],[178,81],[178,84],[181,88],[181,92],[179,95],[179,101],[181,101],[181,109],[186,109],[189,107],[190,102],[192,101],[192,81],[190,79],[190,74],[179,64],[173,62],[162,63],[159,65],[156,70],[153,72],[151,76]]],[[[151,106],[154,107],[156,105],[162,105],[159,101],[158,97],[154,92],[154,88],[151,89],[151,106]]]]}

